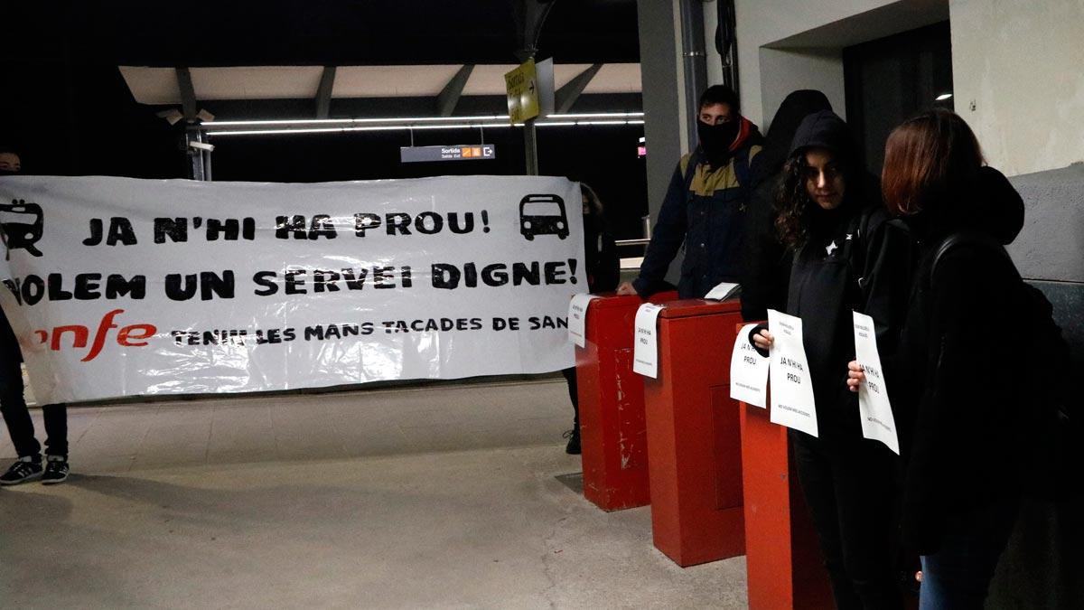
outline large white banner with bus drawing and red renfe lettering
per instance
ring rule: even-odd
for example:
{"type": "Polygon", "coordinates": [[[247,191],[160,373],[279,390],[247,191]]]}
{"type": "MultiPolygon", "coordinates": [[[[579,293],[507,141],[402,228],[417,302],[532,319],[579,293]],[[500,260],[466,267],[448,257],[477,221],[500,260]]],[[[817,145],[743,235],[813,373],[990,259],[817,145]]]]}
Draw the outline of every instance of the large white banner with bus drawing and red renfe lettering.
{"type": "Polygon", "coordinates": [[[0,305],[43,403],[546,372],[572,366],[583,233],[525,214],[579,199],[540,177],[3,178],[0,305]]]}

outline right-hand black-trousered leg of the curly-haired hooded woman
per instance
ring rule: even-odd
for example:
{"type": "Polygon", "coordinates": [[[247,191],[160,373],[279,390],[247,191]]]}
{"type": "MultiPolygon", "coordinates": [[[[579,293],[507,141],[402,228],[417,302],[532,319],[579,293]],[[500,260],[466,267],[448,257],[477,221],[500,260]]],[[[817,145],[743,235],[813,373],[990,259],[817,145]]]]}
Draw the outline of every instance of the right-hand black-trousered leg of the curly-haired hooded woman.
{"type": "Polygon", "coordinates": [[[863,608],[902,608],[895,577],[893,456],[873,441],[834,456],[843,564],[863,608]]]}

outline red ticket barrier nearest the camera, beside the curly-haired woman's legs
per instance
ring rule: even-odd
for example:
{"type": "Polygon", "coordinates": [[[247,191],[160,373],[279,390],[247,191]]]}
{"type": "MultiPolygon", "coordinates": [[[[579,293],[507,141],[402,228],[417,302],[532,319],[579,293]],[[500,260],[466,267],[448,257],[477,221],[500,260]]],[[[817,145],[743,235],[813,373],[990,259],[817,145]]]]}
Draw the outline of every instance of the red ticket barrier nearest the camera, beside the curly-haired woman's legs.
{"type": "Polygon", "coordinates": [[[767,409],[739,405],[749,608],[834,608],[787,429],[767,409]]]}

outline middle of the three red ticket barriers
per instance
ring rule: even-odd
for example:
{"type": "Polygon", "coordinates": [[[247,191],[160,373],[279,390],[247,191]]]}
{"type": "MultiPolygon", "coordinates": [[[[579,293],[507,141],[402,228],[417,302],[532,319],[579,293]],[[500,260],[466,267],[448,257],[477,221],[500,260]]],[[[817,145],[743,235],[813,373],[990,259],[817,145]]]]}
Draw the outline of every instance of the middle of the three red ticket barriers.
{"type": "Polygon", "coordinates": [[[738,404],[730,397],[737,301],[667,303],[658,378],[644,378],[651,533],[679,565],[745,552],[738,404]]]}

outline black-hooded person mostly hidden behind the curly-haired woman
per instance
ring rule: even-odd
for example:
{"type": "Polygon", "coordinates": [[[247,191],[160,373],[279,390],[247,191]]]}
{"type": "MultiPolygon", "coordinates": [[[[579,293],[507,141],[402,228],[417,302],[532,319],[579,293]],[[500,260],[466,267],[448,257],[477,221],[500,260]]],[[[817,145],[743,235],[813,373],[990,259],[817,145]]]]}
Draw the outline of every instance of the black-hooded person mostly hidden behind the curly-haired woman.
{"type": "Polygon", "coordinates": [[[783,164],[802,119],[814,112],[831,110],[821,91],[792,91],[779,104],[764,136],[764,148],[750,166],[749,208],[746,213],[746,265],[741,278],[741,318],[763,320],[769,309],[787,305],[787,282],[793,252],[775,232],[775,192],[783,181],[783,164]]]}

